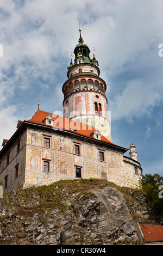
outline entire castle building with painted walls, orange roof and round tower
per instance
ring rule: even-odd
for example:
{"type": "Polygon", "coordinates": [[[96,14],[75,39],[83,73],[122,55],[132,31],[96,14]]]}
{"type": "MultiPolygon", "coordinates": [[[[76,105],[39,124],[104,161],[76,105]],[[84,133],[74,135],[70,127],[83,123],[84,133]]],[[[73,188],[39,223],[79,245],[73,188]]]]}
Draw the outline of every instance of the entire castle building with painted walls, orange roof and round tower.
{"type": "Polygon", "coordinates": [[[112,143],[98,62],[80,38],[74,64],[62,86],[64,117],[38,108],[30,120],[4,139],[0,151],[0,185],[7,191],[52,184],[61,179],[107,179],[119,186],[139,187],[142,168],[135,145],[128,151],[112,143]]]}

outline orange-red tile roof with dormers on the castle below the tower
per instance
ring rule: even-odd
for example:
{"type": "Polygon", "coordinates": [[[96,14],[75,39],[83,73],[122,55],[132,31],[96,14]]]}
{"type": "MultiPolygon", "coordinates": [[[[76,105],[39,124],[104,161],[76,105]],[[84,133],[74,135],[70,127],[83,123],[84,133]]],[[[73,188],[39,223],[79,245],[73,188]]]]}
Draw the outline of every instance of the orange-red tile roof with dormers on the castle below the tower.
{"type": "MultiPolygon", "coordinates": [[[[40,109],[37,110],[37,112],[34,114],[34,116],[31,119],[28,120],[28,122],[52,127],[51,125],[46,125],[45,123],[43,123],[43,120],[45,120],[45,118],[49,114],[52,115],[52,117],[54,118],[53,129],[67,130],[71,132],[75,132],[74,130],[76,130],[75,133],[92,138],[91,133],[95,131],[94,127],[83,124],[83,123],[78,123],[77,121],[73,121],[71,119],[61,117],[60,115],[45,112],[40,109]]],[[[115,145],[104,136],[101,136],[101,141],[115,145]]]]}

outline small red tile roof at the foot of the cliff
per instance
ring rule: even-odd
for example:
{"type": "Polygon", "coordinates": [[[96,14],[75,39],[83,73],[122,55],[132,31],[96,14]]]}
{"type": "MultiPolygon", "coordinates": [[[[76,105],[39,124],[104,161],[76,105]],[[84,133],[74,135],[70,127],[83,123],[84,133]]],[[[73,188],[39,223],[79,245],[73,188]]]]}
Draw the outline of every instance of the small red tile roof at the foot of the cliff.
{"type": "Polygon", "coordinates": [[[146,242],[163,241],[163,224],[139,224],[146,242]]]}

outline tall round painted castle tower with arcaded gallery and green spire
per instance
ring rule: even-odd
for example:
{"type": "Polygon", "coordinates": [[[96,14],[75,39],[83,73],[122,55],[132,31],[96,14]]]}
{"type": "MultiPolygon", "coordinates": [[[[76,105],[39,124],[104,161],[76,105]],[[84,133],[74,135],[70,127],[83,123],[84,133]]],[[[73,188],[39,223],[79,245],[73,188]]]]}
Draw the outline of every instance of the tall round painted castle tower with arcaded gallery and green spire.
{"type": "Polygon", "coordinates": [[[84,44],[79,28],[79,41],[74,48],[74,64],[68,66],[68,80],[62,86],[64,117],[91,125],[111,141],[110,124],[105,96],[106,84],[99,77],[98,61],[84,44]]]}

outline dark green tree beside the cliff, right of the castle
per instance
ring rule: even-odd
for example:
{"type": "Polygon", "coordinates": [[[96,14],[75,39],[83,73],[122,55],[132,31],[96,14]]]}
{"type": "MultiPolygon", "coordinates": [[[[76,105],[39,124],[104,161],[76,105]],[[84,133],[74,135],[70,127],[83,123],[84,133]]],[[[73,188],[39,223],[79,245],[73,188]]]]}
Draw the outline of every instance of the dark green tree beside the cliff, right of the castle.
{"type": "Polygon", "coordinates": [[[142,190],[146,193],[149,204],[156,214],[163,215],[163,198],[160,197],[160,188],[163,190],[163,177],[159,174],[142,176],[142,190]]]}

